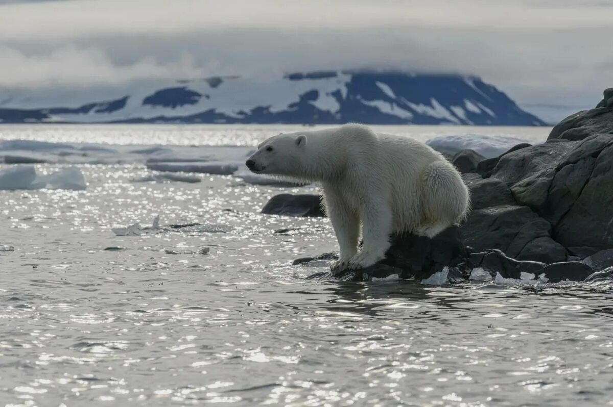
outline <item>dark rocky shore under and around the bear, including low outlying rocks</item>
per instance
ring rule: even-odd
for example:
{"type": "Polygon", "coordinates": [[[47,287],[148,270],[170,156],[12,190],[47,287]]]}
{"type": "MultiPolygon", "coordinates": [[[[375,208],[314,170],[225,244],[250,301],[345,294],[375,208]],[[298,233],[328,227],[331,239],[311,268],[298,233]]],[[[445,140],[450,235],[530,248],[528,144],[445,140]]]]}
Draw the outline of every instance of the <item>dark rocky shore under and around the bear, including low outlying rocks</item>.
{"type": "MultiPolygon", "coordinates": [[[[556,125],[543,144],[519,144],[490,159],[471,150],[447,156],[471,192],[473,210],[466,223],[433,239],[392,236],[385,260],[345,271],[339,280],[391,274],[425,279],[445,271],[449,282],[459,282],[474,269],[492,277],[524,273],[550,282],[613,275],[613,88],[592,110],[556,125]]],[[[324,215],[316,195],[284,194],[272,201],[265,213],[324,215]]],[[[329,273],[311,277],[331,278],[329,273]]]]}

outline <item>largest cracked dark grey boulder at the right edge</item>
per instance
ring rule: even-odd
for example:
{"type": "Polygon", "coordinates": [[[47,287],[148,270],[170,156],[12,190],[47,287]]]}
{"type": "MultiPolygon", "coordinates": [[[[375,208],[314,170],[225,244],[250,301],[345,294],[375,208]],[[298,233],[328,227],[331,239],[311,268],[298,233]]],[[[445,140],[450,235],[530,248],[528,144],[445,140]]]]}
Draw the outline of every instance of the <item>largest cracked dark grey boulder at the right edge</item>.
{"type": "Polygon", "coordinates": [[[491,177],[505,182],[518,204],[551,223],[551,237],[564,247],[584,247],[585,253],[613,245],[611,135],[511,152],[500,159],[491,177]]]}

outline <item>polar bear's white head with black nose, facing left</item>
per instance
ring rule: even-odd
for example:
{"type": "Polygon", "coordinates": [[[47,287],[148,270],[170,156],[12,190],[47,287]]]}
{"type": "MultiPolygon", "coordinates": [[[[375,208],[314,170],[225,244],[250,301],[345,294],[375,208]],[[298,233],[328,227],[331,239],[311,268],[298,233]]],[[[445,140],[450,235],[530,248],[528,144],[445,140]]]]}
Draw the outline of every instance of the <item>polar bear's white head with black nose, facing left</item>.
{"type": "Polygon", "coordinates": [[[298,176],[306,146],[306,135],[281,133],[259,144],[245,165],[256,174],[298,176]]]}

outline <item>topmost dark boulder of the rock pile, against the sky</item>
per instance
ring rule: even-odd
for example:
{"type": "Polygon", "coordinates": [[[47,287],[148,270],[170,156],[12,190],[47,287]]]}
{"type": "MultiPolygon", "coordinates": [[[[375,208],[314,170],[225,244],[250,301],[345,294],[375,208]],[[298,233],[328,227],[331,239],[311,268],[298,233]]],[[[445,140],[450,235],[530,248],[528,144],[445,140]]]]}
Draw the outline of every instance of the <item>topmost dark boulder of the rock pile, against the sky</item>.
{"type": "Polygon", "coordinates": [[[571,114],[555,125],[547,140],[584,140],[598,133],[613,134],[613,88],[604,90],[603,100],[595,108],[571,114]]]}

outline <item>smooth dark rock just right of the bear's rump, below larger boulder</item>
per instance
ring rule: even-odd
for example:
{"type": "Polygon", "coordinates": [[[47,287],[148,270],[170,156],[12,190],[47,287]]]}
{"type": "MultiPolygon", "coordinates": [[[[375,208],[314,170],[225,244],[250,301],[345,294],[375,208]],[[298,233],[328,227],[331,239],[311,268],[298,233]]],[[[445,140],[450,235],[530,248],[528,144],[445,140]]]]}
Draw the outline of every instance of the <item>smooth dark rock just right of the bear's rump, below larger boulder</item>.
{"type": "Polygon", "coordinates": [[[527,206],[501,205],[471,212],[462,234],[474,250],[498,249],[516,257],[537,237],[549,237],[550,228],[527,206]]]}

